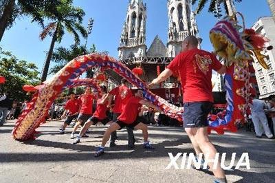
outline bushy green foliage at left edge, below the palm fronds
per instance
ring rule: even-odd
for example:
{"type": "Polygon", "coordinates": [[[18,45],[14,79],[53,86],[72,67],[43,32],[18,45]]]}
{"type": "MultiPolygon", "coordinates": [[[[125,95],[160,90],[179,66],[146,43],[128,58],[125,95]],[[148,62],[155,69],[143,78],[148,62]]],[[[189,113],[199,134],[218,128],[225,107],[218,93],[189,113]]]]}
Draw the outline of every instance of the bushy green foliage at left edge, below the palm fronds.
{"type": "Polygon", "coordinates": [[[23,101],[30,98],[23,91],[23,85],[38,85],[39,72],[34,63],[19,61],[11,52],[4,52],[0,47],[0,75],[5,77],[5,83],[0,87],[9,91],[14,100],[23,101]]]}

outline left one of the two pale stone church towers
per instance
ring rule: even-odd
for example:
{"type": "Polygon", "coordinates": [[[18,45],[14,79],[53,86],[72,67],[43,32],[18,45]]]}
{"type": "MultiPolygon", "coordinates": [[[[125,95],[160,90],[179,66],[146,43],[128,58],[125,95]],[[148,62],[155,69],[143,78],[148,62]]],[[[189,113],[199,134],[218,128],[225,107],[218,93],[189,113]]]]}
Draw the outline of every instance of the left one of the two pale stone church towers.
{"type": "Polygon", "coordinates": [[[120,36],[118,60],[146,55],[145,45],[146,3],[142,0],[130,0],[126,20],[120,36]]]}

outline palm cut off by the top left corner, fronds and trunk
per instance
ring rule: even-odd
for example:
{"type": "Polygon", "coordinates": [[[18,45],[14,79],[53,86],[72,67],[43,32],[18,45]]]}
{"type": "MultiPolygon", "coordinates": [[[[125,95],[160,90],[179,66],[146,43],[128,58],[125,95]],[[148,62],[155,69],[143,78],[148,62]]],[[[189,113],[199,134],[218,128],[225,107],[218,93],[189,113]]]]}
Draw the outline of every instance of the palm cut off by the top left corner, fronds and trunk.
{"type": "Polygon", "coordinates": [[[32,17],[33,21],[38,21],[43,25],[43,19],[38,12],[41,10],[50,10],[56,6],[59,1],[33,1],[33,0],[1,0],[0,1],[0,41],[5,30],[12,27],[15,19],[21,15],[32,17]]]}

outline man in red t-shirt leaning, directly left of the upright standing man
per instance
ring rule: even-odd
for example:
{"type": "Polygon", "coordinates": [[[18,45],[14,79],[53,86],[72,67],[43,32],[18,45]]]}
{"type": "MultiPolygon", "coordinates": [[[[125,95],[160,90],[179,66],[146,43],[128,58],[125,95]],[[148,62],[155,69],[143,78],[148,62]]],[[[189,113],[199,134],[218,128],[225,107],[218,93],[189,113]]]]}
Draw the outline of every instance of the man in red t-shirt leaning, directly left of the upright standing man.
{"type": "Polygon", "coordinates": [[[91,125],[96,125],[98,122],[101,122],[103,125],[106,125],[107,123],[111,122],[111,119],[109,119],[106,115],[106,112],[108,111],[108,92],[106,86],[100,86],[102,91],[102,98],[98,99],[97,105],[96,105],[96,111],[94,112],[93,116],[85,122],[85,125],[83,125],[81,131],[79,132],[78,136],[76,136],[76,140],[74,140],[73,144],[77,144],[80,142],[80,138],[84,135],[84,133],[89,129],[91,125]]]}

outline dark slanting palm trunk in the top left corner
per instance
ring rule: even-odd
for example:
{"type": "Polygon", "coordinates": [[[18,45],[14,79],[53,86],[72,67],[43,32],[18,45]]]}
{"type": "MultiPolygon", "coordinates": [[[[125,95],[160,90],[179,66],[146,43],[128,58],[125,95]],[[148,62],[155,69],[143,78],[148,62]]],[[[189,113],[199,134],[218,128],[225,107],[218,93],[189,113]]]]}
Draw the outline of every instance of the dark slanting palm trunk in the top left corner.
{"type": "Polygon", "coordinates": [[[0,17],[0,41],[3,37],[4,32],[5,32],[5,28],[7,28],[7,26],[8,26],[8,20],[12,16],[14,4],[15,4],[15,0],[8,1],[8,3],[6,4],[6,6],[3,10],[3,14],[0,17]]]}

